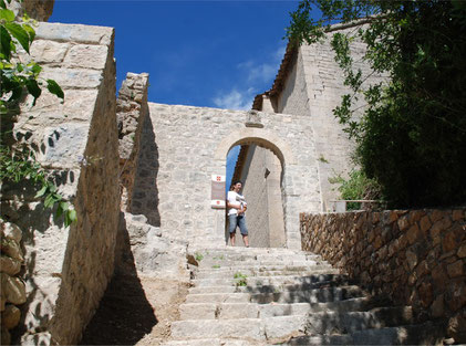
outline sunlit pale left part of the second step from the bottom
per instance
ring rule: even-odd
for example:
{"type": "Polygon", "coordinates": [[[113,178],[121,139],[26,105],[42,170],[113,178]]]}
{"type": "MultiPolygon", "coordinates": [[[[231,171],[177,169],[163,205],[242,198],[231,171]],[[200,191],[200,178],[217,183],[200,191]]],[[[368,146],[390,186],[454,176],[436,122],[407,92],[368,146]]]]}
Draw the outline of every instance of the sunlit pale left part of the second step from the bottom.
{"type": "MultiPolygon", "coordinates": [[[[262,340],[291,336],[304,331],[306,316],[278,316],[267,319],[188,319],[172,323],[174,339],[242,338],[262,340]]],[[[210,345],[210,344],[206,344],[210,345]]]]}

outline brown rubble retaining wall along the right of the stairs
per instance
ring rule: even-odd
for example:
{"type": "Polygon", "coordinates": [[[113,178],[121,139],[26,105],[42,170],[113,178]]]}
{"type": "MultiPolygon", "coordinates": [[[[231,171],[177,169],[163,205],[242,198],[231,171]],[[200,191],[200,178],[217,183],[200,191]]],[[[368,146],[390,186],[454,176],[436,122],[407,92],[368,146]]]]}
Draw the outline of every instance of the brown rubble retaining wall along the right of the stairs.
{"type": "Polygon", "coordinates": [[[302,249],[466,342],[466,208],[301,214],[302,249]]]}

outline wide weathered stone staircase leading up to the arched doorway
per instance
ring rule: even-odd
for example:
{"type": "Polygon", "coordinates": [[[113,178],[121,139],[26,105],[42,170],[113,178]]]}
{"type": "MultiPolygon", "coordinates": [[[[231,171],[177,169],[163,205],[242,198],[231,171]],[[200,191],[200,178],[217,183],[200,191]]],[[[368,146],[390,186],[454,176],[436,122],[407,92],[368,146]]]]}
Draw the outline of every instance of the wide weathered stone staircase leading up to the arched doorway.
{"type": "Polygon", "coordinates": [[[287,249],[197,250],[175,345],[442,345],[410,306],[369,295],[319,255],[287,249]]]}

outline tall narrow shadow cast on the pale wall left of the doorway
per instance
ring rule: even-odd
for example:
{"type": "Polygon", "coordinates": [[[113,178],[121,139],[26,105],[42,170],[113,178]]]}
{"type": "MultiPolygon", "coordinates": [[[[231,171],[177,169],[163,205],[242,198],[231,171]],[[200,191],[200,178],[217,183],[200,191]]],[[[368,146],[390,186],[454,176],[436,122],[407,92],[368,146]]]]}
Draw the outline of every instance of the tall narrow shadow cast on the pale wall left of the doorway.
{"type": "Polygon", "coordinates": [[[130,212],[145,216],[147,222],[155,227],[160,227],[157,188],[158,167],[158,147],[155,143],[154,125],[147,114],[141,136],[139,157],[130,212]]]}

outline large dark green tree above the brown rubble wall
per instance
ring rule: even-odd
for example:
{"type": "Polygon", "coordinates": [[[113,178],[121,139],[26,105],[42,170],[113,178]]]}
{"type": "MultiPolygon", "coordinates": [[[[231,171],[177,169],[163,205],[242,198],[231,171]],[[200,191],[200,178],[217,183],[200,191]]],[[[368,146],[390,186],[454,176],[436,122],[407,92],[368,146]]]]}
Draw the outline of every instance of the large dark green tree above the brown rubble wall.
{"type": "Polygon", "coordinates": [[[390,207],[465,202],[466,2],[301,1],[291,19],[288,35],[297,43],[353,21],[331,41],[351,90],[334,115],[356,143],[356,164],[380,184],[390,207]],[[312,19],[313,10],[320,19],[312,19]],[[364,83],[371,74],[354,66],[355,39],[366,44],[373,73],[390,81],[364,83]],[[354,104],[362,101],[364,112],[355,117],[354,104]]]}

